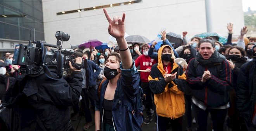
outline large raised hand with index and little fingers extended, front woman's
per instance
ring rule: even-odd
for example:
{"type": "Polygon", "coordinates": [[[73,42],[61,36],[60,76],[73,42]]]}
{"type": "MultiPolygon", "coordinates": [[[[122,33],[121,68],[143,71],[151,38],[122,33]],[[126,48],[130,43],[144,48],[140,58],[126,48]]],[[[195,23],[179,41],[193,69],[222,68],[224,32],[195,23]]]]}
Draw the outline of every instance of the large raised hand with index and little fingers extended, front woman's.
{"type": "Polygon", "coordinates": [[[115,38],[125,37],[125,13],[123,16],[114,16],[113,20],[107,13],[106,8],[103,8],[107,21],[109,22],[109,27],[107,28],[109,34],[115,38]]]}

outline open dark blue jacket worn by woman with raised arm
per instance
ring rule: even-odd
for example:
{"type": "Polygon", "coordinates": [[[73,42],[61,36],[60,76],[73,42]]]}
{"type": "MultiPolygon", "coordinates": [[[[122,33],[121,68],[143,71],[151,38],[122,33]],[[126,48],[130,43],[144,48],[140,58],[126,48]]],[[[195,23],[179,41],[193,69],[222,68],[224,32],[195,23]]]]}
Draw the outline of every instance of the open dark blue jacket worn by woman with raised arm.
{"type": "MultiPolygon", "coordinates": [[[[135,96],[136,94],[138,94],[140,77],[135,67],[134,60],[131,69],[123,69],[122,62],[120,63],[120,69],[122,77],[120,77],[118,80],[114,95],[114,101],[112,103],[112,121],[114,124],[114,129],[116,131],[137,131],[135,127],[139,127],[139,130],[141,130],[140,124],[142,123],[133,123],[133,115],[127,111],[125,105],[122,102],[123,98],[119,97],[124,95],[129,102],[135,103],[135,96]]],[[[104,130],[104,109],[102,104],[108,82],[109,81],[106,80],[102,83],[100,95],[98,94],[97,90],[95,99],[95,110],[100,111],[102,131],[104,130]]]]}

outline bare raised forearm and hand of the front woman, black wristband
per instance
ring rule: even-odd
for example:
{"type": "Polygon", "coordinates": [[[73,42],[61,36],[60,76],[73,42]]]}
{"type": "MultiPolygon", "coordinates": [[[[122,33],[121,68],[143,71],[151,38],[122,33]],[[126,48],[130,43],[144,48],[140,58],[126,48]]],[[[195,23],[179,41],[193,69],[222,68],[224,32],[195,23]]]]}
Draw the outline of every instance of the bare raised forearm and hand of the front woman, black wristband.
{"type": "Polygon", "coordinates": [[[131,53],[129,46],[125,40],[125,13],[123,16],[114,16],[113,20],[110,18],[107,13],[106,8],[103,8],[107,21],[109,22],[108,31],[109,34],[116,38],[118,43],[121,61],[123,65],[123,69],[130,69],[132,67],[133,61],[131,58],[131,53]]]}

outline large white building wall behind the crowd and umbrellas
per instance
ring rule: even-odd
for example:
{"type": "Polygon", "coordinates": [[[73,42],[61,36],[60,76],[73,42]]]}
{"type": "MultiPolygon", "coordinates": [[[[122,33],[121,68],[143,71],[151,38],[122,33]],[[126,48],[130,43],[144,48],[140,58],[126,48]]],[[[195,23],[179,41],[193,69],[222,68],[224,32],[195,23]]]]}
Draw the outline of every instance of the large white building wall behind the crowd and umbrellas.
{"type": "MultiPolygon", "coordinates": [[[[67,32],[71,38],[63,47],[89,39],[109,42],[103,7],[107,7],[111,17],[126,13],[126,33],[144,35],[149,40],[154,40],[162,27],[176,34],[188,31],[188,37],[207,31],[205,0],[42,0],[42,3],[45,41],[55,44],[55,32],[67,32]]],[[[240,34],[244,26],[242,0],[211,0],[211,10],[213,32],[227,36],[227,23],[232,22],[233,36],[240,34]]]]}

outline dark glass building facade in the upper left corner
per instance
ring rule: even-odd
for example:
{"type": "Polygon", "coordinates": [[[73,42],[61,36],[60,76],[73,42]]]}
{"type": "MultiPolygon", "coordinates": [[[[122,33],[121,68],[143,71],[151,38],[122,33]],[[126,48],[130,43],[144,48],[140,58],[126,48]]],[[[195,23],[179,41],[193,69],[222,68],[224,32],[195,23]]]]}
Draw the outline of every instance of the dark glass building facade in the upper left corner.
{"type": "Polygon", "coordinates": [[[42,0],[0,0],[0,39],[29,41],[31,28],[44,40],[42,0]]]}

